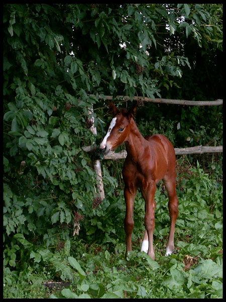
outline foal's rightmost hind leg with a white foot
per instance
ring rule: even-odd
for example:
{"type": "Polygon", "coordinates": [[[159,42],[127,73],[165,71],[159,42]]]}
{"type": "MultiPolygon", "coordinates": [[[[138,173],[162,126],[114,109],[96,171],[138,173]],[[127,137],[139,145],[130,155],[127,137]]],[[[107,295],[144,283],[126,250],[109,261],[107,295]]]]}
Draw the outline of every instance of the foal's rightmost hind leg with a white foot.
{"type": "Polygon", "coordinates": [[[174,251],[174,231],[175,231],[175,224],[178,216],[178,198],[176,193],[176,178],[164,178],[163,179],[164,185],[166,186],[169,202],[169,215],[170,215],[170,233],[169,239],[166,246],[166,255],[171,255],[174,251]]]}

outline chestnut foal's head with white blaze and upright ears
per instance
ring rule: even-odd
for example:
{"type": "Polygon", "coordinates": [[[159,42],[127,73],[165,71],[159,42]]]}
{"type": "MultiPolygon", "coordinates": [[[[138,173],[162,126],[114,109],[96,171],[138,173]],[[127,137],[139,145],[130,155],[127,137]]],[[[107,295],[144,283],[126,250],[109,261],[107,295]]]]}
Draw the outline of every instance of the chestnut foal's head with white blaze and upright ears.
{"type": "Polygon", "coordinates": [[[115,149],[127,140],[130,133],[131,119],[137,109],[136,106],[133,106],[128,111],[126,109],[118,109],[112,102],[109,102],[109,107],[114,118],[112,118],[107,133],[100,143],[100,149],[104,154],[107,154],[110,150],[115,149]]]}

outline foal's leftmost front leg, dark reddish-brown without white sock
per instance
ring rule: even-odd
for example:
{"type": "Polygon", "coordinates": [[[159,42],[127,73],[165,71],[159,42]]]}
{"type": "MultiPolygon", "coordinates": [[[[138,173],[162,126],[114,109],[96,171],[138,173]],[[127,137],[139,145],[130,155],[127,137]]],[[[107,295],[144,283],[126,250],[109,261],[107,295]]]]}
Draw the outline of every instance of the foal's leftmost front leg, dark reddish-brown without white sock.
{"type": "Polygon", "coordinates": [[[126,232],[126,259],[127,253],[132,251],[132,233],[134,230],[134,219],[133,219],[133,211],[134,211],[134,200],[137,195],[137,188],[134,186],[128,187],[125,186],[124,189],[124,197],[126,201],[126,216],[124,220],[124,229],[126,232]]]}

